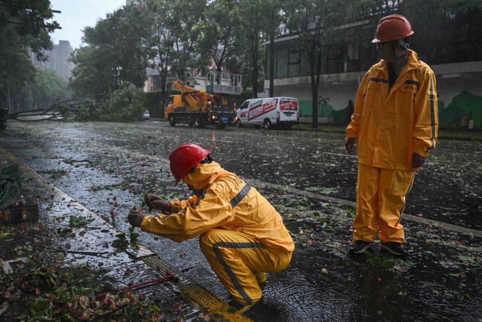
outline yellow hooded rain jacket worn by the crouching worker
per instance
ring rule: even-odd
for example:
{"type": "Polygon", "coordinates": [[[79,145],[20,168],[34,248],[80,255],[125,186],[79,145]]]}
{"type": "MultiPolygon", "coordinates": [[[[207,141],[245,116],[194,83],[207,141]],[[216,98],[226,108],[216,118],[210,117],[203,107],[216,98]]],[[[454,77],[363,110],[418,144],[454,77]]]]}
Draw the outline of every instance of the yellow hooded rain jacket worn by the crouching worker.
{"type": "Polygon", "coordinates": [[[203,195],[172,200],[171,215],[148,215],[145,232],[180,242],[219,228],[247,234],[275,254],[290,253],[294,243],[282,217],[255,188],[216,162],[198,164],[183,180],[203,195]]]}

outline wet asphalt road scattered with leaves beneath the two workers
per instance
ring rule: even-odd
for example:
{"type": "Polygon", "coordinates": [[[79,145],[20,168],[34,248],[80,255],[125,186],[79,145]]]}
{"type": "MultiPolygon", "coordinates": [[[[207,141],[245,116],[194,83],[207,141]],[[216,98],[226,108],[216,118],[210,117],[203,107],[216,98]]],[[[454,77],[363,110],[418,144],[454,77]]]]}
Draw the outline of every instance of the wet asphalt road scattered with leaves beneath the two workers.
{"type": "MultiPolygon", "coordinates": [[[[403,221],[411,256],[393,259],[376,247],[362,258],[346,253],[348,206],[293,195],[286,187],[355,200],[356,157],[338,132],[193,129],[167,123],[9,123],[1,146],[99,215],[118,213],[116,228],[144,192],[186,198],[173,187],[167,163],[182,143],[209,150],[228,171],[264,194],[293,233],[296,252],[269,277],[254,320],[478,320],[482,238],[403,221]],[[87,161],[85,161],[87,160],[87,161]],[[260,182],[261,181],[261,182],[260,182]],[[264,185],[263,182],[276,184],[264,185]],[[118,205],[113,202],[116,197],[118,205]],[[321,270],[325,268],[328,274],[321,270]]],[[[415,177],[406,213],[482,230],[482,144],[440,140],[415,177]]],[[[213,276],[197,240],[174,243],[142,234],[141,243],[214,293],[213,276]]]]}

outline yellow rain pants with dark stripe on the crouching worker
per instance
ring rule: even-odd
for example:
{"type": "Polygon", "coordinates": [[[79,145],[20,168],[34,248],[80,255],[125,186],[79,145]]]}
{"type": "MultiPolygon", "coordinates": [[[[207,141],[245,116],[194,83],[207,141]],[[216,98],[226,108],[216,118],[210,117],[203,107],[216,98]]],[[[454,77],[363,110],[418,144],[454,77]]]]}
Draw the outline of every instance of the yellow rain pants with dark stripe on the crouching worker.
{"type": "Polygon", "coordinates": [[[253,237],[224,229],[200,235],[199,245],[226,290],[244,305],[256,303],[263,295],[255,272],[279,272],[291,260],[291,253],[276,255],[253,237]]]}

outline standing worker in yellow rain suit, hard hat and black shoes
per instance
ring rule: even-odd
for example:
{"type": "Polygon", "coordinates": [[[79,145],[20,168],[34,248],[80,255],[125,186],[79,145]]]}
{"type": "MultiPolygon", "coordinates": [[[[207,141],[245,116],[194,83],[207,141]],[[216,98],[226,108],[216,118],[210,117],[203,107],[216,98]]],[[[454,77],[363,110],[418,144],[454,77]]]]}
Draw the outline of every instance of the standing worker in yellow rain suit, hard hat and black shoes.
{"type": "Polygon", "coordinates": [[[365,74],[358,87],[355,110],[346,129],[346,149],[353,152],[358,138],[356,218],[352,253],[364,253],[374,244],[407,255],[400,219],[405,195],[414,174],[437,142],[438,112],[435,76],[409,50],[412,27],[401,15],[378,23],[376,38],[381,60],[365,74]],[[377,227],[377,224],[378,227],[377,227]]]}

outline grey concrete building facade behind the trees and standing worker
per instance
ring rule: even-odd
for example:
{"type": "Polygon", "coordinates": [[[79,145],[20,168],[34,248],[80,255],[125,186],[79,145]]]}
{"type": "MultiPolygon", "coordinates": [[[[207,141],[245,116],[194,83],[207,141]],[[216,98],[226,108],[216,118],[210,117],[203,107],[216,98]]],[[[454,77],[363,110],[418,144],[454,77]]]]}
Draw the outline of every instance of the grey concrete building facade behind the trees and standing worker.
{"type": "MultiPolygon", "coordinates": [[[[467,21],[470,29],[471,21],[467,21]]],[[[378,62],[376,46],[371,44],[375,30],[376,25],[368,22],[346,24],[338,28],[338,39],[343,39],[343,42],[331,43],[329,39],[325,41],[326,45],[322,48],[323,62],[318,96],[330,100],[329,105],[323,110],[323,115],[320,114],[322,111],[318,105],[320,123],[336,121],[336,111],[347,107],[349,100],[355,100],[360,81],[368,69],[378,62]],[[360,39],[360,33],[364,34],[366,39],[360,39]]],[[[458,112],[457,117],[466,115],[468,120],[475,118],[475,123],[480,123],[476,125],[482,128],[482,43],[479,37],[469,35],[464,40],[462,34],[461,40],[457,38],[460,35],[453,36],[453,39],[447,39],[448,36],[443,39],[435,30],[415,30],[415,35],[417,37],[414,36],[410,48],[417,52],[420,59],[428,63],[435,73],[439,111],[453,102],[460,107],[459,96],[463,94],[466,103],[462,104],[477,106],[460,107],[465,111],[458,112]],[[444,40],[446,43],[443,43],[444,40]]],[[[296,49],[297,39],[297,34],[285,33],[276,37],[274,41],[274,96],[297,98],[300,120],[305,116],[306,121],[311,122],[310,67],[306,53],[296,49]]],[[[269,90],[270,85],[270,42],[266,43],[266,49],[265,92],[269,90]]],[[[338,119],[341,114],[338,113],[338,119]]],[[[446,125],[450,126],[450,122],[454,122],[454,117],[447,118],[446,121],[441,121],[448,122],[446,125]]]]}

